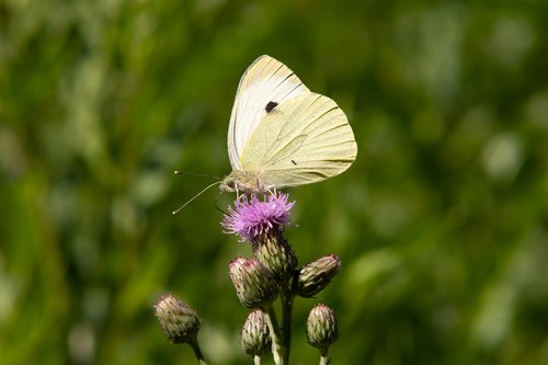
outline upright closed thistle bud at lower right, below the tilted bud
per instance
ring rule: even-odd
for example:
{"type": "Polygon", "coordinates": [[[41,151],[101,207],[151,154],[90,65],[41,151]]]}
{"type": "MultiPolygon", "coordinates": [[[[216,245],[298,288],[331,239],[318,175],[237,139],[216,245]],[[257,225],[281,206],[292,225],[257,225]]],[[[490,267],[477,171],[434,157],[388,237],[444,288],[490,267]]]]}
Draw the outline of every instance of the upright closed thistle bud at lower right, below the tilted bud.
{"type": "Polygon", "coordinates": [[[310,310],[307,320],[308,343],[327,353],[329,346],[339,338],[339,327],[333,310],[319,304],[310,310]]]}

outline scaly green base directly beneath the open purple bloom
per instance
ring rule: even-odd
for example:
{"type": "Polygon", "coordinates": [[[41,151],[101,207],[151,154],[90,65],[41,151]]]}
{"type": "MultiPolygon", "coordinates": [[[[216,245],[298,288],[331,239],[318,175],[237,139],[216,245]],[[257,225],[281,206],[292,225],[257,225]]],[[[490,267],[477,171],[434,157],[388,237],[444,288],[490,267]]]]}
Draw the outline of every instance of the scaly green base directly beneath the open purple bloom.
{"type": "Polygon", "coordinates": [[[292,277],[297,267],[297,256],[281,230],[261,235],[253,243],[253,254],[283,282],[292,277]]]}

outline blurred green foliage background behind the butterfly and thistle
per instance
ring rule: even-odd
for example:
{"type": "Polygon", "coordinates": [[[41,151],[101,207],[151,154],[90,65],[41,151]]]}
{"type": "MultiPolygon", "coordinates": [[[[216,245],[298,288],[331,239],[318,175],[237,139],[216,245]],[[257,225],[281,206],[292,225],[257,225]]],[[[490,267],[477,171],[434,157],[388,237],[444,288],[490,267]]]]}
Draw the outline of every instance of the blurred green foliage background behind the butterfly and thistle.
{"type": "MultiPolygon", "coordinates": [[[[0,1],[0,364],[193,364],[152,306],[202,317],[209,364],[250,364],[222,233],[226,133],[260,55],[334,99],[358,156],[290,191],[295,308],[338,315],[333,364],[548,364],[546,1],[0,1]]],[[[271,362],[266,362],[270,364],[271,362]]]]}

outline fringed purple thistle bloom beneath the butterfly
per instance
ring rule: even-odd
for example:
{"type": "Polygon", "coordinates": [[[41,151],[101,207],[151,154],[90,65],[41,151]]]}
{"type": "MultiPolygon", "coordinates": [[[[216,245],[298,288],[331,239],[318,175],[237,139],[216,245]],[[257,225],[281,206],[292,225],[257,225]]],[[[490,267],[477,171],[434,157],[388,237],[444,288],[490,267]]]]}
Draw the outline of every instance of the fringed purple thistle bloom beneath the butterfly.
{"type": "Polygon", "coordinates": [[[289,212],[295,202],[288,203],[288,194],[269,195],[261,202],[256,195],[243,196],[235,202],[235,208],[228,207],[221,226],[228,233],[240,236],[242,240],[253,242],[259,236],[289,223],[289,212]]]}

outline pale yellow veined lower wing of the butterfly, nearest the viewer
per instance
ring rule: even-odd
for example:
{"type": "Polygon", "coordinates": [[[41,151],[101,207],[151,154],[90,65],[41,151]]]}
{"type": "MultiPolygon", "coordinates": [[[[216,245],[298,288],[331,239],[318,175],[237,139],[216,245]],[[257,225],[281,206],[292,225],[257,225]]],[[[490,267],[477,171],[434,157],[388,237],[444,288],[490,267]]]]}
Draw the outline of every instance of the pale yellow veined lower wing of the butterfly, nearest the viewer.
{"type": "Polygon", "coordinates": [[[338,175],[354,162],[357,145],[331,99],[304,93],[267,113],[241,153],[244,171],[265,186],[295,186],[338,175]]]}

